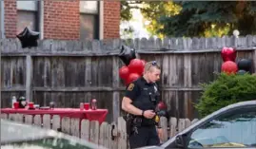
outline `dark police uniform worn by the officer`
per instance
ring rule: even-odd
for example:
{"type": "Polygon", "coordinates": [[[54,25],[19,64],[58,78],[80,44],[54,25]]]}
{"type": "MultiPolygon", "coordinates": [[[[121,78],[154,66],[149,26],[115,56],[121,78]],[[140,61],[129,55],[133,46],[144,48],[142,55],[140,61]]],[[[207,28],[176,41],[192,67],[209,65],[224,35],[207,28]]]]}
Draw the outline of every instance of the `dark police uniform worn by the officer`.
{"type": "MultiPolygon", "coordinates": [[[[143,111],[155,111],[156,104],[159,102],[156,84],[148,84],[144,77],[129,84],[125,96],[132,101],[131,104],[143,111]]],[[[147,119],[144,116],[135,116],[135,118],[141,121],[136,121],[135,130],[132,129],[128,136],[130,148],[158,145],[160,140],[156,131],[155,119],[147,119]]]]}

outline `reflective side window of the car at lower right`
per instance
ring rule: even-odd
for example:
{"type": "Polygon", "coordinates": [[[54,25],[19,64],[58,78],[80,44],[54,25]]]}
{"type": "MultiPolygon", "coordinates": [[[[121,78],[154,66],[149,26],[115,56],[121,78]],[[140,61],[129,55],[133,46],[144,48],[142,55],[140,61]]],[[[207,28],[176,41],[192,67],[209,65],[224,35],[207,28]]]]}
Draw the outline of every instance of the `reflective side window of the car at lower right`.
{"type": "Polygon", "coordinates": [[[256,147],[256,107],[229,112],[194,132],[187,148],[256,147]]]}

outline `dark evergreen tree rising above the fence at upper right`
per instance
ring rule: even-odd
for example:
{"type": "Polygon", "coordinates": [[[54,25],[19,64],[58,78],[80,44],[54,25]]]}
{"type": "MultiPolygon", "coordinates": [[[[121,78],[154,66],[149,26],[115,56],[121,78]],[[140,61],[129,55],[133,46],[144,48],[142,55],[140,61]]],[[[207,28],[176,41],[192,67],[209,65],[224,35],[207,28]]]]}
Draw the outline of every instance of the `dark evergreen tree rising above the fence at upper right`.
{"type": "Polygon", "coordinates": [[[159,32],[167,36],[222,36],[238,29],[241,35],[256,34],[256,2],[183,1],[174,16],[162,15],[159,32]]]}

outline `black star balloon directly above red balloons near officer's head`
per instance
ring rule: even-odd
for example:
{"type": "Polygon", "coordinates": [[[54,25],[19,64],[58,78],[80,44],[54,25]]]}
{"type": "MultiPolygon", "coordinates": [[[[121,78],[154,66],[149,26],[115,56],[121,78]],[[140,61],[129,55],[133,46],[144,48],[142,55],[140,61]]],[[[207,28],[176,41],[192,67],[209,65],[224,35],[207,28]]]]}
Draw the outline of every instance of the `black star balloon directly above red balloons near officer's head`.
{"type": "Polygon", "coordinates": [[[135,49],[122,46],[118,56],[126,65],[129,65],[129,62],[136,58],[135,49]]]}

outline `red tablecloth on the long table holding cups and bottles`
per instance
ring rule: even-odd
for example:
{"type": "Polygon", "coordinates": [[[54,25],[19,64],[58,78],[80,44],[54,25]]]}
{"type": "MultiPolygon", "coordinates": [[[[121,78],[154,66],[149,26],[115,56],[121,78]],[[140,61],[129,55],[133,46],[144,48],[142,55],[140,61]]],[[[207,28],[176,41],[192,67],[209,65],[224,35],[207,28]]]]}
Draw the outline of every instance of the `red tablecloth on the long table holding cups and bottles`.
{"type": "Polygon", "coordinates": [[[13,108],[2,108],[1,113],[19,113],[19,114],[30,114],[30,115],[59,115],[61,118],[80,118],[87,119],[89,121],[99,121],[102,123],[105,121],[108,114],[107,109],[97,109],[97,110],[80,110],[79,108],[53,108],[53,109],[13,109],[13,108]]]}

